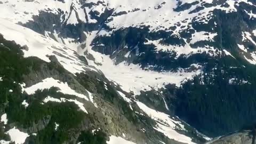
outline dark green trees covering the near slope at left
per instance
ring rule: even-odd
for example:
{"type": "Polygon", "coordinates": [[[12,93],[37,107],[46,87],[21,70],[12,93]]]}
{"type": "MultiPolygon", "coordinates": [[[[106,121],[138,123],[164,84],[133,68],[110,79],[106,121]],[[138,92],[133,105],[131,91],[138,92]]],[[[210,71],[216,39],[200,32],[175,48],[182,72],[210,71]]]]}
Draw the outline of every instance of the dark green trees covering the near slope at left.
{"type": "Polygon", "coordinates": [[[79,110],[74,102],[47,102],[43,105],[47,95],[57,99],[74,99],[74,95],[59,93],[55,87],[38,90],[33,95],[22,93],[20,84],[25,81],[25,76],[41,70],[42,65],[59,73],[65,72],[53,62],[46,63],[35,57],[24,58],[22,49],[0,35],[0,115],[6,113],[8,118],[5,128],[0,125],[0,139],[9,141],[9,135],[4,132],[16,126],[30,134],[27,142],[31,144],[70,141],[73,133],[80,133],[81,123],[90,123],[90,116],[79,110]],[[21,104],[23,100],[29,103],[28,107],[21,104]],[[57,130],[55,123],[59,124],[57,130]]]}

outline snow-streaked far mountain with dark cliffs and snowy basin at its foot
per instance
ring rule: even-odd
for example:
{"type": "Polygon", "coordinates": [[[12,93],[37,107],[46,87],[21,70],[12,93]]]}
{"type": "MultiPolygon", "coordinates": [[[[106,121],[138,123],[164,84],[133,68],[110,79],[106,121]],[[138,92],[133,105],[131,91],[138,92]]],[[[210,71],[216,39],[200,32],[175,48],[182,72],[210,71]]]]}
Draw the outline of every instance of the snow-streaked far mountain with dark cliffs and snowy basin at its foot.
{"type": "MultiPolygon", "coordinates": [[[[47,0],[6,1],[0,6],[2,18],[51,37],[80,55],[92,54],[90,65],[102,63],[97,67],[107,77],[135,94],[166,83],[179,85],[200,73],[204,61],[193,58],[195,55],[231,55],[219,34],[222,25],[229,22],[221,23],[218,13],[239,11],[247,21],[254,21],[253,1],[47,0]],[[95,51],[110,55],[110,59],[95,51]],[[177,61],[185,62],[181,65],[177,61]],[[126,66],[127,63],[133,65],[126,66]],[[195,70],[188,72],[191,68],[195,70]],[[130,70],[136,75],[131,76],[130,70]],[[173,70],[175,73],[170,72],[173,70]]],[[[254,64],[255,54],[247,50],[255,44],[253,26],[238,28],[236,33],[236,51],[254,64]]]]}

